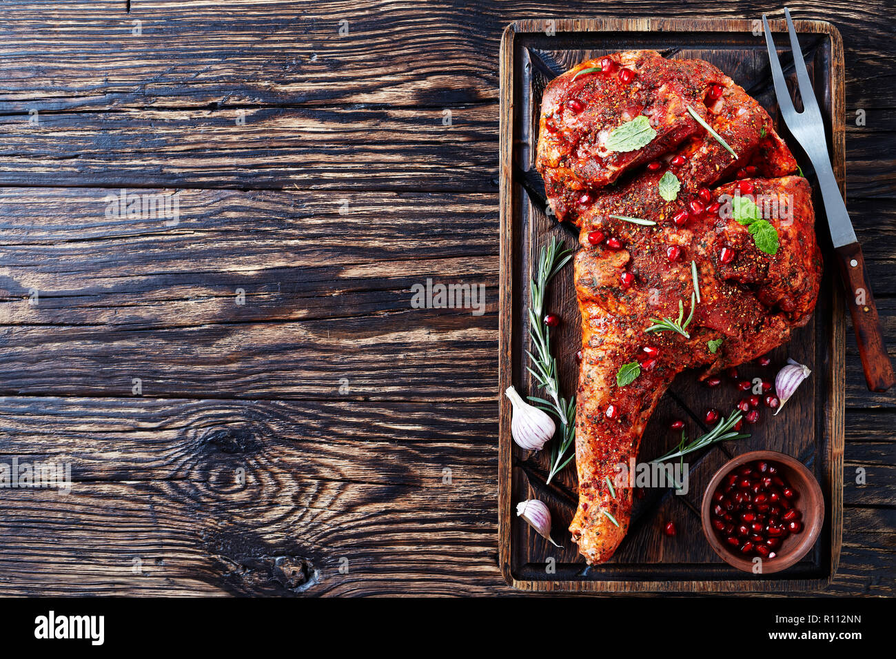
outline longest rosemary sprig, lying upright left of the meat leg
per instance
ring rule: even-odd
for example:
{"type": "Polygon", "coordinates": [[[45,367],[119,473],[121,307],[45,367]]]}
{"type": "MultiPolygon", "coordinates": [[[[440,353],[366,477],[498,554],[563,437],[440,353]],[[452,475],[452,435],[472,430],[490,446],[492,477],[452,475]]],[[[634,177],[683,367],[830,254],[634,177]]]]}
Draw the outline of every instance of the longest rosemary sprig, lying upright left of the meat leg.
{"type": "Polygon", "coordinates": [[[551,354],[550,328],[541,322],[544,313],[547,284],[559,273],[563,266],[573,258],[572,250],[563,249],[563,243],[556,238],[541,247],[538,259],[538,271],[530,282],[529,333],[532,338],[532,351],[527,351],[532,366],[526,367],[535,381],[547,392],[547,398],[529,396],[545,412],[554,414],[560,420],[560,441],[551,442],[551,466],[547,473],[547,482],[563,469],[573,455],[565,457],[573,446],[575,438],[575,397],[566,400],[560,395],[560,377],[557,373],[557,362],[551,354]]]}

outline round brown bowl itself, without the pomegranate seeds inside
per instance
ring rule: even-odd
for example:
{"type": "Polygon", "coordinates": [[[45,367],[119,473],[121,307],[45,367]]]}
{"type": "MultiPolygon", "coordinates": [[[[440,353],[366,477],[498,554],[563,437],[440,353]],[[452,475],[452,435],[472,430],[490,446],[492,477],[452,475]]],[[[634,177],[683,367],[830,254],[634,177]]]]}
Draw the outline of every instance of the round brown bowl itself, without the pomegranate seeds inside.
{"type": "Polygon", "coordinates": [[[719,557],[727,562],[728,565],[745,572],[752,572],[754,568],[752,556],[745,557],[737,549],[732,550],[728,544],[719,539],[719,535],[712,528],[712,494],[728,473],[736,470],[741,464],[753,462],[754,460],[765,460],[779,467],[783,478],[788,481],[791,488],[797,491],[795,507],[802,513],[800,521],[803,523],[803,531],[801,533],[789,533],[784,541],[781,542],[779,550],[775,552],[777,556],[773,559],[762,560],[762,574],[771,574],[794,565],[812,549],[815,541],[818,539],[818,534],[822,531],[824,523],[824,497],[821,486],[818,484],[818,481],[815,481],[814,476],[806,469],[806,466],[783,453],[776,451],[750,451],[743,455],[737,455],[737,457],[723,464],[719,471],[713,474],[710,484],[706,486],[706,490],[703,492],[701,518],[703,534],[706,536],[707,541],[710,542],[712,550],[719,554],[719,557]]]}

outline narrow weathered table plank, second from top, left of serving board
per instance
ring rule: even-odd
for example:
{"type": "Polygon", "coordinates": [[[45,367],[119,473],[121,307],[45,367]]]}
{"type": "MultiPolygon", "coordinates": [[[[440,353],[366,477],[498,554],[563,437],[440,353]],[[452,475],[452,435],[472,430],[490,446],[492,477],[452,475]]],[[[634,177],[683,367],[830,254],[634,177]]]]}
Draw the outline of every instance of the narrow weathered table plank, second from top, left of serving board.
{"type": "Polygon", "coordinates": [[[5,116],[0,181],[495,191],[496,111],[496,105],[133,109],[43,114],[33,117],[36,124],[5,116]]]}

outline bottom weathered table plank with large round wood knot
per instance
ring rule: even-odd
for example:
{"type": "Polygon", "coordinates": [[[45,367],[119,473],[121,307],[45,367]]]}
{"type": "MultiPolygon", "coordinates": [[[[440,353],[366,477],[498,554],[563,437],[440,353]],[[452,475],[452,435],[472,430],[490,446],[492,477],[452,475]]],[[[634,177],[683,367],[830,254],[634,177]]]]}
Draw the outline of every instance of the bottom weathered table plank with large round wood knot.
{"type": "Polygon", "coordinates": [[[484,594],[496,581],[491,405],[0,409],[0,463],[70,462],[75,481],[4,490],[4,594],[484,594]]]}

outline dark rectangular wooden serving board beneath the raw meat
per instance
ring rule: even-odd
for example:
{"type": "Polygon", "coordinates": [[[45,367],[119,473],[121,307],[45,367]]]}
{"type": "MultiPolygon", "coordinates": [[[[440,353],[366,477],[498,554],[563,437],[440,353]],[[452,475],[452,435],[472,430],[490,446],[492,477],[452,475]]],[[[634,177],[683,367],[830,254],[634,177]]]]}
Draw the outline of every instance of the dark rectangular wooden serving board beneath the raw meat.
{"type": "MultiPolygon", "coordinates": [[[[840,33],[827,22],[796,22],[797,32],[822,114],[834,172],[843,188],[844,82],[840,33]]],[[[787,26],[771,22],[782,64],[788,53],[787,26]]],[[[701,58],[717,65],[767,108],[806,176],[814,176],[805,154],[778,121],[762,22],[668,21],[653,19],[593,19],[581,21],[521,21],[504,31],[501,45],[501,326],[500,388],[514,385],[537,394],[526,371],[529,347],[526,304],[533,264],[540,247],[551,236],[576,248],[576,232],[545,212],[544,190],[535,171],[541,93],[547,82],[578,62],[619,50],[651,48],[665,56],[701,58]],[[755,33],[754,33],[754,30],[755,33]]],[[[792,65],[785,74],[793,74],[792,65]]],[[[795,77],[795,75],[793,76],[795,77]]],[[[798,107],[798,106],[797,106],[798,107]]],[[[530,453],[513,443],[511,406],[502,395],[500,410],[500,562],[507,582],[526,590],[556,591],[795,591],[821,588],[831,581],[840,556],[842,532],[843,391],[845,316],[840,289],[831,279],[834,261],[817,190],[814,196],[816,230],[825,253],[826,272],[813,320],[797,330],[790,343],[771,354],[771,367],[745,365],[741,377],[773,380],[788,357],[808,365],[813,375],[772,417],[752,427],[752,437],[716,445],[689,455],[689,491],[645,490],[635,499],[633,521],[625,542],[609,562],[588,567],[578,555],[567,527],[578,495],[574,464],[550,485],[545,484],[548,451],[530,453]],[[753,575],[731,568],[711,550],[702,534],[702,493],[711,475],[733,455],[768,448],[794,455],[822,484],[826,519],[814,549],[797,565],[771,575],[753,575]],[[541,499],[551,509],[556,549],[515,514],[524,499],[541,499]],[[675,522],[677,533],[666,536],[663,526],[675,522]]],[[[581,345],[580,316],[573,288],[573,268],[556,277],[547,308],[563,318],[554,333],[564,393],[575,392],[574,354],[581,345]]],[[[723,378],[724,379],[724,378],[723,378]]],[[[649,461],[677,443],[668,430],[671,418],[687,422],[689,436],[705,432],[704,411],[731,412],[742,394],[732,381],[709,389],[684,373],[674,383],[650,421],[642,440],[639,461],[649,461]]]]}

